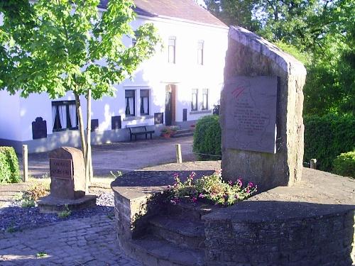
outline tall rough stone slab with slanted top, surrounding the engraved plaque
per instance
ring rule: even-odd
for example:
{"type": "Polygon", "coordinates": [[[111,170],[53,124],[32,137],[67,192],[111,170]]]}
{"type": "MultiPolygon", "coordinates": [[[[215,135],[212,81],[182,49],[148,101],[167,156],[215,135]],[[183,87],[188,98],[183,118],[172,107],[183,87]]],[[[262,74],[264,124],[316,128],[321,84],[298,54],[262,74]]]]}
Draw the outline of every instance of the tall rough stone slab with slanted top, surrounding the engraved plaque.
{"type": "Polygon", "coordinates": [[[227,95],[221,97],[222,175],[226,180],[244,177],[266,191],[300,180],[303,159],[302,87],[305,67],[263,38],[244,28],[231,27],[224,82],[238,76],[278,77],[276,153],[226,148],[227,95]]]}

